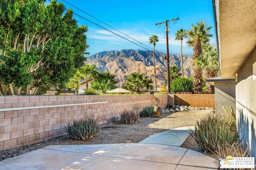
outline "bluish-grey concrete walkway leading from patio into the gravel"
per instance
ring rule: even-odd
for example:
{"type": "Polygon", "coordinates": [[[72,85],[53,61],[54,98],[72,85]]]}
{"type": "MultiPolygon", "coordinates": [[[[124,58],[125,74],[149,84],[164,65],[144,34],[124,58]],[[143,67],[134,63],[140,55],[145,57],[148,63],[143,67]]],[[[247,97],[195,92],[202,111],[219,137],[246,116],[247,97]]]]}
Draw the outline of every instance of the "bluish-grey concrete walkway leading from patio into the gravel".
{"type": "Polygon", "coordinates": [[[178,127],[176,129],[163,131],[154,135],[150,135],[139,143],[164,144],[180,147],[189,136],[189,129],[194,130],[195,127],[178,127]]]}

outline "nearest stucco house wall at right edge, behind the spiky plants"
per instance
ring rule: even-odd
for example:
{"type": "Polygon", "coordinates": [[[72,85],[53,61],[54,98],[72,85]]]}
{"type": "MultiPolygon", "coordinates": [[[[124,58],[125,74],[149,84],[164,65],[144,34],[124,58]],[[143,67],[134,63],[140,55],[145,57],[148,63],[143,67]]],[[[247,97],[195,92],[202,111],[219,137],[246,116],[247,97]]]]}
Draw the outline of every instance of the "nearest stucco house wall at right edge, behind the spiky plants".
{"type": "Polygon", "coordinates": [[[252,64],[256,62],[256,49],[238,71],[236,82],[236,117],[238,134],[248,143],[256,155],[256,80],[252,76],[252,64]]]}

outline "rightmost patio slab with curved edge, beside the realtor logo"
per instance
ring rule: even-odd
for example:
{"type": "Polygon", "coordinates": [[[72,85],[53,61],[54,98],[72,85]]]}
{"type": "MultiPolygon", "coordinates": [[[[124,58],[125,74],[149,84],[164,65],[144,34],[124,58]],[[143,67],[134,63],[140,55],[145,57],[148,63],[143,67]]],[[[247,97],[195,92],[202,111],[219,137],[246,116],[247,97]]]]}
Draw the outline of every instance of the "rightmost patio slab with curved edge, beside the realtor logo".
{"type": "Polygon", "coordinates": [[[204,155],[200,152],[188,149],[179,164],[189,166],[199,166],[204,168],[212,168],[218,166],[218,160],[204,155]]]}

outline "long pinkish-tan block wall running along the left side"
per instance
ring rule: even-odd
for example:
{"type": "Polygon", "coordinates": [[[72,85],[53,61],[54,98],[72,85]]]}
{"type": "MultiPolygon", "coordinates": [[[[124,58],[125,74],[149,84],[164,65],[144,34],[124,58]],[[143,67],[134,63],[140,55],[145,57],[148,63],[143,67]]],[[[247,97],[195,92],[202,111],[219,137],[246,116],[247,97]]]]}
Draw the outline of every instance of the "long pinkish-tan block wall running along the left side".
{"type": "MultiPolygon", "coordinates": [[[[154,95],[0,96],[0,109],[21,108],[0,111],[0,150],[58,137],[65,133],[62,127],[68,121],[79,119],[85,113],[98,116],[100,123],[106,123],[125,109],[142,109],[153,104],[154,95]],[[47,107],[94,102],[108,103],[47,107]],[[37,106],[43,108],[32,108],[37,106]]],[[[165,94],[161,107],[167,104],[168,95],[165,94]]]]}

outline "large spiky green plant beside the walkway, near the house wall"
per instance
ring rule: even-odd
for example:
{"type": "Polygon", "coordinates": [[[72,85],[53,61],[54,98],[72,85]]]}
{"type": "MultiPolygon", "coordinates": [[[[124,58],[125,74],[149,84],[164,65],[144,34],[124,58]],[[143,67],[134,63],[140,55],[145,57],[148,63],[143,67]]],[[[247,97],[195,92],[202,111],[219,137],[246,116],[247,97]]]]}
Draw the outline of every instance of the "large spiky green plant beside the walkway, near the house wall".
{"type": "Polygon", "coordinates": [[[196,121],[195,131],[190,130],[190,135],[200,149],[212,152],[218,150],[219,144],[237,141],[237,132],[230,128],[228,117],[216,113],[210,113],[196,121]]]}

